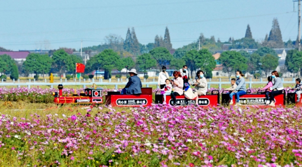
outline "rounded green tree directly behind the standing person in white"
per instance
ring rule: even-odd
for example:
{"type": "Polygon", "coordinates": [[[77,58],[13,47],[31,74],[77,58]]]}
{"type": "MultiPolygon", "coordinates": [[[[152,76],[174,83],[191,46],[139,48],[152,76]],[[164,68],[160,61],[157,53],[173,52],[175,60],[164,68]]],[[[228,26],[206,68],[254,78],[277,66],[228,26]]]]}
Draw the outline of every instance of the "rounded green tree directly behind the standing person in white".
{"type": "Polygon", "coordinates": [[[170,54],[168,49],[164,47],[156,47],[150,50],[151,57],[154,58],[157,62],[157,67],[167,66],[170,64],[173,56],[170,54]]]}

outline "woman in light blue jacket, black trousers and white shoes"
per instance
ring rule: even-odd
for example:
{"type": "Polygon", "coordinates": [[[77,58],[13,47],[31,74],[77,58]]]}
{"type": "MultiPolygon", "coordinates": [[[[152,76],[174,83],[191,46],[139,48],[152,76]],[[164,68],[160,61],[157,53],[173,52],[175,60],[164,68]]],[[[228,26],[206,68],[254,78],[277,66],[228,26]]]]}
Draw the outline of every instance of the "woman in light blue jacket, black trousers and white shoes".
{"type": "Polygon", "coordinates": [[[269,93],[270,97],[270,106],[274,106],[274,96],[282,94],[283,88],[283,83],[282,80],[279,78],[279,74],[277,71],[272,71],[271,72],[271,77],[273,79],[273,86],[269,88],[269,90],[272,90],[269,93]]]}

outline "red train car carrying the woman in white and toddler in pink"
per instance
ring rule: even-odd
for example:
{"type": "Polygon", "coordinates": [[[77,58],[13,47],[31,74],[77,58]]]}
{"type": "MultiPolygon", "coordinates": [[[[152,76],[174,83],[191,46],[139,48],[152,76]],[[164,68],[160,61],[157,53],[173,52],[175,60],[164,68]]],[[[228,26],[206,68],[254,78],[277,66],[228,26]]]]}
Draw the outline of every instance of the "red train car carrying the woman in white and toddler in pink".
{"type": "MultiPolygon", "coordinates": [[[[200,107],[214,107],[219,104],[219,91],[218,90],[212,90],[210,95],[205,96],[198,96],[198,105],[200,107]]],[[[155,103],[162,104],[163,102],[163,96],[162,95],[155,95],[155,103]]],[[[172,105],[172,99],[171,96],[166,96],[166,102],[167,104],[172,105]]],[[[176,96],[176,105],[175,106],[185,106],[185,99],[184,96],[176,96]]],[[[195,100],[188,100],[188,105],[194,105],[195,100]]]]}

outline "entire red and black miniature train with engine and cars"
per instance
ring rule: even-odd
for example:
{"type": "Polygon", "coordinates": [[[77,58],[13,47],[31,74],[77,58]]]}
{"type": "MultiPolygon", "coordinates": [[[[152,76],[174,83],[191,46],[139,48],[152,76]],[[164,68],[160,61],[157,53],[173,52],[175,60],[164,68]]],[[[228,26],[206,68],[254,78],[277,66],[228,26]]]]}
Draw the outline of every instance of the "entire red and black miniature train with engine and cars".
{"type": "MultiPolygon", "coordinates": [[[[74,93],[72,95],[62,94],[63,86],[58,85],[59,92],[53,92],[53,102],[55,104],[103,104],[102,89],[101,88],[86,88],[84,92],[79,95],[74,93]]],[[[285,105],[285,90],[282,94],[274,97],[275,106],[285,105]]],[[[296,106],[302,105],[301,102],[296,103],[296,94],[287,92],[287,104],[295,104],[296,106]]],[[[250,90],[246,91],[246,95],[240,96],[239,103],[242,106],[259,106],[259,107],[271,107],[265,105],[265,95],[261,94],[259,90],[256,94],[251,94],[250,90]]],[[[120,92],[107,92],[105,95],[105,105],[111,105],[112,107],[145,107],[154,104],[162,104],[163,96],[155,93],[155,100],[152,99],[152,88],[141,88],[141,94],[139,95],[120,95],[120,92]]],[[[172,104],[171,97],[166,96],[166,103],[172,104]]],[[[235,97],[233,97],[233,103],[235,104],[235,97]]],[[[176,96],[175,106],[185,106],[184,96],[176,96]]],[[[188,100],[188,104],[195,104],[195,100],[188,100]]],[[[217,105],[228,105],[229,94],[227,91],[220,93],[219,90],[213,90],[210,94],[199,96],[198,105],[199,107],[215,107],[217,105]]]]}

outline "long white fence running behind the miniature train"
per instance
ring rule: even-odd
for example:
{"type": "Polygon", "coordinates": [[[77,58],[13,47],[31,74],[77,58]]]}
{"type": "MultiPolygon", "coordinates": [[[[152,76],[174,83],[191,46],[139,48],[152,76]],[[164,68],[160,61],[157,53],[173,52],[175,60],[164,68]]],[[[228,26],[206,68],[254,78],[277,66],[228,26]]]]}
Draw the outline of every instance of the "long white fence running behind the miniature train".
{"type": "MultiPolygon", "coordinates": [[[[295,78],[292,78],[292,81],[284,81],[284,78],[281,78],[283,83],[290,83],[290,84],[295,84],[295,78]]],[[[230,80],[230,79],[229,79],[230,80]]],[[[118,89],[117,86],[118,85],[126,85],[128,79],[126,79],[126,82],[122,82],[122,80],[118,79],[117,83],[111,83],[111,79],[109,79],[109,82],[102,82],[102,79],[99,80],[94,80],[92,79],[91,82],[86,82],[86,80],[84,79],[84,82],[81,82],[81,79],[77,80],[76,82],[67,82],[67,80],[65,79],[64,82],[62,79],[60,79],[60,82],[57,83],[49,83],[46,82],[47,80],[45,79],[45,82],[35,82],[35,80],[33,80],[33,82],[29,79],[29,82],[26,83],[21,83],[19,80],[14,81],[13,82],[4,82],[2,80],[2,82],[0,83],[0,86],[16,86],[16,87],[20,87],[20,86],[27,86],[28,88],[30,88],[30,86],[40,86],[40,85],[49,85],[51,88],[53,88],[54,86],[57,86],[58,84],[62,84],[62,85],[82,85],[83,88],[86,87],[86,85],[92,85],[93,83],[95,83],[96,85],[115,85],[115,89],[118,89]]],[[[75,81],[75,80],[74,80],[75,81]]],[[[89,80],[90,81],[90,80],[89,80]]],[[[248,84],[249,88],[252,88],[252,84],[263,84],[265,85],[267,83],[267,81],[262,81],[262,78],[260,78],[260,81],[252,81],[251,78],[249,78],[249,81],[245,81],[246,84],[248,84]]],[[[153,82],[144,82],[141,83],[142,85],[146,85],[146,87],[149,87],[149,85],[157,85],[157,82],[154,81],[153,82]]],[[[229,85],[229,82],[221,82],[221,78],[219,78],[218,82],[211,82],[211,79],[209,79],[209,82],[207,82],[207,87],[210,88],[211,84],[218,84],[219,89],[221,89],[221,85],[222,84],[227,84],[229,85]]],[[[157,86],[158,88],[158,86],[157,86]]]]}

